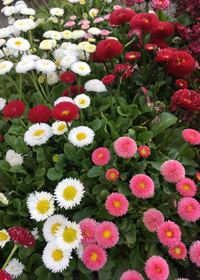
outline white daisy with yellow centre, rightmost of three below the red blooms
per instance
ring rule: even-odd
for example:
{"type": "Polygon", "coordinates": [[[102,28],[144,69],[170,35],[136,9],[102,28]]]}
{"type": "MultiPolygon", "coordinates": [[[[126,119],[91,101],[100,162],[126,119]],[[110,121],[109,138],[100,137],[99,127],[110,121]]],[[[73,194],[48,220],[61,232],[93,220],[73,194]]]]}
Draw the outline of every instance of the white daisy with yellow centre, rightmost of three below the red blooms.
{"type": "Polygon", "coordinates": [[[70,130],[68,139],[74,146],[83,147],[91,144],[94,136],[94,131],[91,128],[87,126],[78,126],[70,130]]]}

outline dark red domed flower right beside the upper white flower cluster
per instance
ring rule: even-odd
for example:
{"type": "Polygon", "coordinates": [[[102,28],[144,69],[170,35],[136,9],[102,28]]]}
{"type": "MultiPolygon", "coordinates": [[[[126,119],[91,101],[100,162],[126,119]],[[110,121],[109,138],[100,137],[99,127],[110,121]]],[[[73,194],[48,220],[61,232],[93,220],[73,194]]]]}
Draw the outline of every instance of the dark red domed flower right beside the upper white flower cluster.
{"type": "Polygon", "coordinates": [[[96,55],[101,60],[111,59],[123,52],[122,44],[115,39],[101,41],[96,48],[96,55]]]}

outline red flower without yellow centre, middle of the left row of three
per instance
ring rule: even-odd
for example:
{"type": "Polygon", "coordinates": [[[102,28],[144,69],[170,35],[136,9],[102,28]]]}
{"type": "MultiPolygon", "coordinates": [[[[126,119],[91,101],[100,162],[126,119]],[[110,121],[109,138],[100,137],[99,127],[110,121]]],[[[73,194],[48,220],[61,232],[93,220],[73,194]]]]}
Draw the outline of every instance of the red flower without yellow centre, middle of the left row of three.
{"type": "Polygon", "coordinates": [[[51,119],[51,109],[45,105],[36,105],[28,111],[31,123],[47,123],[51,119]]]}

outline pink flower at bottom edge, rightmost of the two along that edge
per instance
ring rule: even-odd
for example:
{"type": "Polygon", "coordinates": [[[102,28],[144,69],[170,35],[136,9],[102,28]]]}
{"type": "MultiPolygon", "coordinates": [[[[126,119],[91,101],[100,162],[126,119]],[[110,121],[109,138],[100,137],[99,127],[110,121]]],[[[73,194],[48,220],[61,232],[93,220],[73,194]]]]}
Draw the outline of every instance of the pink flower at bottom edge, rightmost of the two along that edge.
{"type": "Polygon", "coordinates": [[[169,275],[169,266],[162,257],[152,256],[145,263],[145,273],[150,280],[166,280],[169,275]]]}

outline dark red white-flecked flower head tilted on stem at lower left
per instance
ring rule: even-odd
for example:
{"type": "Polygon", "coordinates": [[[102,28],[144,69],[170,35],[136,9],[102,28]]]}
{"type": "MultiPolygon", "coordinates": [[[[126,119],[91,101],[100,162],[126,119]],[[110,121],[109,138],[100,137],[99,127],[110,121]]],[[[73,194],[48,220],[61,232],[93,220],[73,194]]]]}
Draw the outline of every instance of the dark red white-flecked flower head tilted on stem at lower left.
{"type": "Polygon", "coordinates": [[[8,230],[10,238],[14,243],[19,243],[24,247],[34,247],[35,238],[30,231],[21,227],[12,227],[8,230]]]}

